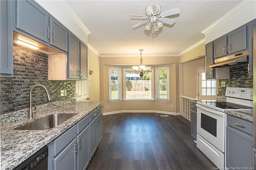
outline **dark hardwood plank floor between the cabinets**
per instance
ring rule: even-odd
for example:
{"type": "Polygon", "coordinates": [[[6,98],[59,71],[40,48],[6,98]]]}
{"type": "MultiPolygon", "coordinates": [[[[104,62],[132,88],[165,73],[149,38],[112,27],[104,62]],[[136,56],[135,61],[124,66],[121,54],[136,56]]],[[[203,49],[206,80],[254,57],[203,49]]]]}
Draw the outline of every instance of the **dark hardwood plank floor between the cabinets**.
{"type": "Polygon", "coordinates": [[[190,121],[158,113],[103,116],[103,137],[87,170],[212,170],[196,148],[190,121]]]}

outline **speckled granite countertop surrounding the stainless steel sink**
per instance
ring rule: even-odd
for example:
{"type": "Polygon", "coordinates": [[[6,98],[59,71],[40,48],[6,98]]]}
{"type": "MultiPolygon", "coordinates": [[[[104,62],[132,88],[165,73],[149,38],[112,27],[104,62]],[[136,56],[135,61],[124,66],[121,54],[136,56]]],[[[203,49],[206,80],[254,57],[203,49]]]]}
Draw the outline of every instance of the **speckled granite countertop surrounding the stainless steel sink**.
{"type": "Polygon", "coordinates": [[[1,126],[1,169],[14,169],[24,162],[24,160],[60,136],[64,131],[86,117],[86,115],[102,103],[89,101],[68,103],[56,109],[35,114],[32,120],[22,119],[18,122],[1,126]],[[54,113],[77,115],[58,125],[58,127],[48,130],[14,130],[14,128],[54,113]]]}

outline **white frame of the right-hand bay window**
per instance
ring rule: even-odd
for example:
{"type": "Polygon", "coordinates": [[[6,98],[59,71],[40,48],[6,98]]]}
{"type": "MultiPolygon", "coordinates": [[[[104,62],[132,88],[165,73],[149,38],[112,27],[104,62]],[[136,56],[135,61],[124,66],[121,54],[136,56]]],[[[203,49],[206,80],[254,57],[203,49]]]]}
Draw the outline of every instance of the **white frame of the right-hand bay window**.
{"type": "Polygon", "coordinates": [[[168,101],[170,102],[170,67],[166,66],[166,67],[156,67],[155,68],[155,75],[156,75],[156,79],[155,79],[155,99],[156,101],[168,101]],[[167,70],[167,81],[166,83],[160,83],[160,77],[159,77],[159,72],[161,70],[167,70]],[[166,85],[166,98],[167,99],[161,99],[160,98],[160,85],[166,85]]]}

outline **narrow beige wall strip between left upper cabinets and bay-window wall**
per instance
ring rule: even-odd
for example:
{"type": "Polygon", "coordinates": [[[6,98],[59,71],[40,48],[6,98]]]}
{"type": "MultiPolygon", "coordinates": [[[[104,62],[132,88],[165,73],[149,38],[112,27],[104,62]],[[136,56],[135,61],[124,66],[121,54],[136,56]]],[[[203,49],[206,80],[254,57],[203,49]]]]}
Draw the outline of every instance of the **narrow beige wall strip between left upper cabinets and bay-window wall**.
{"type": "Polygon", "coordinates": [[[89,70],[93,71],[93,74],[89,75],[90,101],[100,101],[100,58],[90,49],[88,49],[88,57],[89,70]]]}

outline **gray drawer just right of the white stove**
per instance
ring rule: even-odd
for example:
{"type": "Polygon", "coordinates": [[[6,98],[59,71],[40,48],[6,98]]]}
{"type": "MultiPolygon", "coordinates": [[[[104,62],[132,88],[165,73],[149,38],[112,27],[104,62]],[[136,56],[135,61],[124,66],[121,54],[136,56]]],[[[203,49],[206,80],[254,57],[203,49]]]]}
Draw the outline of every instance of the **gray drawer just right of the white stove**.
{"type": "Polygon", "coordinates": [[[243,119],[227,115],[227,125],[252,135],[252,123],[243,119]]]}

